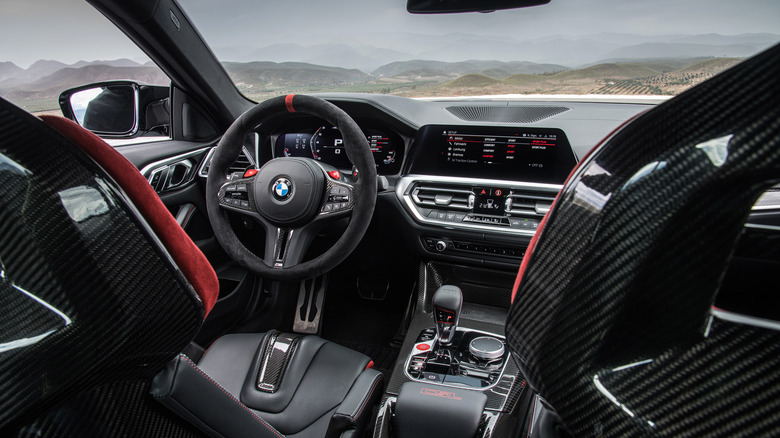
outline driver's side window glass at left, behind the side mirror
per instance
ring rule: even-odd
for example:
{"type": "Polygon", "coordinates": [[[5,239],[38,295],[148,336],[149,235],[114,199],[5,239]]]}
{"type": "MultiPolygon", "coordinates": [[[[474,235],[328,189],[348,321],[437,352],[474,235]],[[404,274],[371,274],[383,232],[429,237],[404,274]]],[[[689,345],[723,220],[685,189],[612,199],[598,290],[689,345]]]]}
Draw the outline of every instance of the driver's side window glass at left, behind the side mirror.
{"type": "MultiPolygon", "coordinates": [[[[170,85],[162,70],[87,2],[34,3],[11,0],[0,16],[0,40],[8,43],[0,53],[4,99],[36,115],[62,115],[60,93],[80,85],[120,79],[170,85]]],[[[151,134],[159,139],[166,133],[151,134]]]]}

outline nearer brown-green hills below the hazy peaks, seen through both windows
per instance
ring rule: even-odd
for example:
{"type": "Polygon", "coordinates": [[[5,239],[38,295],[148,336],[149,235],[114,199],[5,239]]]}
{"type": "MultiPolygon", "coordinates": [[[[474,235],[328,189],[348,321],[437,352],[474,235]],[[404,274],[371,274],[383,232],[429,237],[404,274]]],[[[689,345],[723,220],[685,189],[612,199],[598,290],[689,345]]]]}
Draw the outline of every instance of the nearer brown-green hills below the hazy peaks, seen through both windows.
{"type": "MultiPolygon", "coordinates": [[[[648,62],[606,62],[579,69],[557,64],[468,60],[401,61],[372,74],[357,69],[303,62],[226,62],[239,90],[261,101],[286,93],[361,92],[409,97],[487,94],[655,94],[674,95],[725,70],[742,58],[653,59],[648,62]]],[[[63,90],[91,82],[128,79],[167,84],[153,64],[130,60],[79,62],[70,66],[39,61],[29,69],[0,63],[0,94],[31,111],[58,108],[63,90]],[[64,66],[64,67],[63,67],[64,66]],[[58,68],[59,67],[59,68],[58,68]],[[34,80],[24,74],[40,74],[34,80]],[[20,72],[21,70],[21,72],[20,72]],[[12,77],[8,77],[12,76],[12,77]],[[24,82],[27,80],[27,82],[24,82]]]]}

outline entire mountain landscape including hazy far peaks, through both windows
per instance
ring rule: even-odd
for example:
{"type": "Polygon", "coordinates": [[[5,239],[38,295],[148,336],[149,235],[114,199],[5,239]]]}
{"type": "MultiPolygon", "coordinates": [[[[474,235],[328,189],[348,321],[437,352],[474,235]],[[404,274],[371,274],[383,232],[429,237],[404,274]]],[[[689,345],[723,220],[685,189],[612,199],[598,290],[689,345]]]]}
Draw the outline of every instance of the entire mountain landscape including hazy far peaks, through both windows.
{"type": "MultiPolygon", "coordinates": [[[[431,95],[446,95],[461,89],[478,92],[475,87],[521,92],[517,91],[520,87],[522,92],[560,92],[572,81],[583,80],[582,89],[609,92],[611,85],[599,88],[595,87],[597,82],[660,77],[711,58],[744,58],[777,41],[780,35],[775,34],[595,34],[515,41],[466,33],[378,32],[360,41],[345,37],[310,46],[235,46],[215,52],[239,90],[253,99],[263,99],[282,92],[324,90],[421,95],[424,89],[431,95]]],[[[30,110],[55,109],[63,90],[111,79],[169,82],[153,63],[130,59],[70,65],[40,60],[26,69],[0,62],[0,95],[30,110]]],[[[621,86],[649,93],[678,91],[650,83],[642,85],[645,88],[631,88],[634,85],[621,86]]]]}

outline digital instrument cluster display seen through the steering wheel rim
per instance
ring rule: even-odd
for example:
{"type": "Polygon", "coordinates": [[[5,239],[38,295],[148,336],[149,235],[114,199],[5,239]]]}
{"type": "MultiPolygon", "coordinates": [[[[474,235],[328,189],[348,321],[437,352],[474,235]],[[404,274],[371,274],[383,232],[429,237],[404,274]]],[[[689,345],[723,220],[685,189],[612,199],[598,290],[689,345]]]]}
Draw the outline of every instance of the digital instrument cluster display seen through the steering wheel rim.
{"type": "MultiPolygon", "coordinates": [[[[401,137],[385,129],[361,128],[371,146],[377,173],[398,173],[404,152],[401,137]]],[[[325,124],[283,132],[276,138],[273,156],[313,158],[338,169],[352,168],[341,132],[335,126],[325,124]]]]}

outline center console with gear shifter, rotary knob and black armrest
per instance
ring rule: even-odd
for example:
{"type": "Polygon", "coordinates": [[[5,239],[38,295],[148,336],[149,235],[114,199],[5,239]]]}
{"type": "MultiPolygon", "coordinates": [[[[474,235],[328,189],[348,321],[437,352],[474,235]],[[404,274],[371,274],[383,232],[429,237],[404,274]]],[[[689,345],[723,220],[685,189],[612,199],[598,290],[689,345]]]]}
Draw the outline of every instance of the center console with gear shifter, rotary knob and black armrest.
{"type": "Polygon", "coordinates": [[[402,369],[395,369],[388,385],[375,437],[492,436],[499,417],[514,410],[525,382],[518,380],[504,337],[495,333],[500,330],[486,330],[501,325],[478,323],[502,320],[486,309],[483,315],[465,304],[456,286],[436,290],[430,313],[407,334],[402,369]]]}

